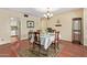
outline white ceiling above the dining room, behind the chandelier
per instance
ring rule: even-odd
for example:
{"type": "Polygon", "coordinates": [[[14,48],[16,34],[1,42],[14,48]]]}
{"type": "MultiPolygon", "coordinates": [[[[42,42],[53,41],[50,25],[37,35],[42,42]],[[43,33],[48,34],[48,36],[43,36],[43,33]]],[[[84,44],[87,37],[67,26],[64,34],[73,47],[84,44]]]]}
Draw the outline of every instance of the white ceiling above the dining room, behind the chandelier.
{"type": "MultiPolygon", "coordinates": [[[[19,11],[25,14],[39,17],[39,18],[43,17],[43,14],[47,11],[46,10],[47,8],[8,8],[8,9],[13,11],[19,11]]],[[[58,14],[70,10],[75,10],[77,8],[50,8],[50,9],[51,9],[50,11],[53,14],[56,14],[56,13],[58,14]]]]}

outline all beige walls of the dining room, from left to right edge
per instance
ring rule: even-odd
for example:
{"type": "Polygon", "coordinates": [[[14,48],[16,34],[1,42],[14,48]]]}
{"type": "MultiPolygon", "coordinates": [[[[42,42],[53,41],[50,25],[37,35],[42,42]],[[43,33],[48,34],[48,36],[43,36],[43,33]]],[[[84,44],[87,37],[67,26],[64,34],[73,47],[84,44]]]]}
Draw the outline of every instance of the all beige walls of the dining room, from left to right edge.
{"type": "MultiPolygon", "coordinates": [[[[85,11],[85,19],[87,15],[87,9],[85,11]]],[[[61,31],[61,40],[72,41],[72,19],[73,18],[83,18],[83,9],[77,9],[68,12],[64,12],[61,14],[54,15],[51,20],[34,18],[32,15],[29,15],[29,18],[24,18],[23,13],[0,9],[0,44],[6,44],[7,42],[10,42],[10,18],[19,18],[21,21],[21,39],[28,39],[28,32],[31,29],[26,28],[26,21],[33,20],[35,22],[35,26],[33,30],[45,30],[47,26],[51,26],[55,30],[61,31]],[[55,28],[56,21],[59,20],[62,23],[62,26],[55,28]]],[[[85,24],[85,23],[84,23],[85,24]]],[[[86,30],[86,28],[84,28],[86,30]]],[[[86,32],[84,32],[84,35],[86,32]]],[[[85,37],[85,43],[86,36],[85,37]]]]}

